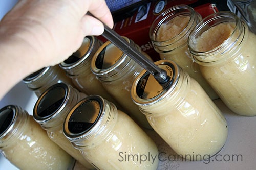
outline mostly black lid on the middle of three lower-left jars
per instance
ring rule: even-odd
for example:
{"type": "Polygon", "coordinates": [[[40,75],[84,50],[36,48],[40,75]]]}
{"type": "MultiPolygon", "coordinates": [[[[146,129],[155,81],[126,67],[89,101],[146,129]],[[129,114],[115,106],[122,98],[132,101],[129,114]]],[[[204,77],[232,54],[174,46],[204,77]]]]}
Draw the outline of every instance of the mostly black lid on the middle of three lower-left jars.
{"type": "Polygon", "coordinates": [[[33,117],[37,122],[44,122],[57,113],[63,106],[68,95],[68,85],[58,83],[49,87],[39,96],[33,110],[33,117]]]}

